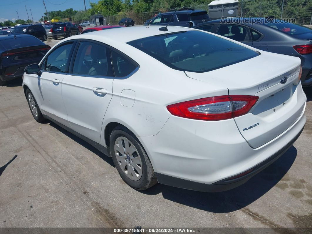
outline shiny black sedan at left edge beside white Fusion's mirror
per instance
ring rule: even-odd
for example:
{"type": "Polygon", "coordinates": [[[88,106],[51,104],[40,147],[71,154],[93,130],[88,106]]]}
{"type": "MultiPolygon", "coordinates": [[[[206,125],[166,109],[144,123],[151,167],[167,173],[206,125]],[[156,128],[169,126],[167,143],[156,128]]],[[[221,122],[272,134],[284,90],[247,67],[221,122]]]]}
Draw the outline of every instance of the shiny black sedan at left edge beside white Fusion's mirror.
{"type": "Polygon", "coordinates": [[[0,37],[0,86],[22,77],[24,68],[39,63],[49,49],[50,46],[31,35],[0,37]]]}

